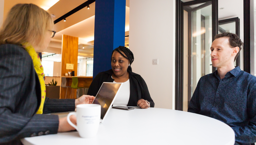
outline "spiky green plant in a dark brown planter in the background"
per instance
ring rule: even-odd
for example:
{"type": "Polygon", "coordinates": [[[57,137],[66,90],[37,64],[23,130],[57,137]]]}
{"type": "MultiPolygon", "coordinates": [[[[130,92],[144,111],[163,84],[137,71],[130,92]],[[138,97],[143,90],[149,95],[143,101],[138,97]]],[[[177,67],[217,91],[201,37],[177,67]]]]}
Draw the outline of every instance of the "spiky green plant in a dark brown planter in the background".
{"type": "Polygon", "coordinates": [[[60,86],[57,86],[57,81],[54,80],[50,83],[45,84],[46,88],[46,97],[51,99],[59,99],[60,97],[60,86]]]}

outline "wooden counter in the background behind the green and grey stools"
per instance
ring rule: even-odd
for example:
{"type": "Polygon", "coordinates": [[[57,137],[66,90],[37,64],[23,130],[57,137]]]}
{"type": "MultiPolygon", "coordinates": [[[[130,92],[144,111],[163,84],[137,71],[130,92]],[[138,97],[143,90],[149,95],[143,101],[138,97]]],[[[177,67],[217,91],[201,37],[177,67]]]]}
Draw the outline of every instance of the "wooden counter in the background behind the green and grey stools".
{"type": "MultiPolygon", "coordinates": [[[[67,86],[71,86],[72,77],[77,77],[78,78],[78,85],[77,85],[78,87],[89,88],[90,85],[91,85],[91,82],[93,82],[93,77],[92,76],[61,76],[61,77],[66,77],[67,86]]],[[[67,88],[62,88],[61,87],[60,99],[65,99],[66,91],[67,91],[67,88]]],[[[76,99],[76,89],[68,88],[66,99],[76,99]],[[72,97],[71,91],[73,93],[73,97],[72,97]]]]}

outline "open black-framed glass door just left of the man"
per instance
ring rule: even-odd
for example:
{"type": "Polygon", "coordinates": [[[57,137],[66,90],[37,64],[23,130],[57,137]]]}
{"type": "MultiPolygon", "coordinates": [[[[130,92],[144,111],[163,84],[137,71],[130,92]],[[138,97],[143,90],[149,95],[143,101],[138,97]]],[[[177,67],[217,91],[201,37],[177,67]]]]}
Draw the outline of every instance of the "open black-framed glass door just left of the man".
{"type": "Polygon", "coordinates": [[[216,70],[212,67],[212,41],[217,34],[217,1],[181,3],[181,47],[183,47],[182,108],[187,111],[199,79],[216,70]]]}

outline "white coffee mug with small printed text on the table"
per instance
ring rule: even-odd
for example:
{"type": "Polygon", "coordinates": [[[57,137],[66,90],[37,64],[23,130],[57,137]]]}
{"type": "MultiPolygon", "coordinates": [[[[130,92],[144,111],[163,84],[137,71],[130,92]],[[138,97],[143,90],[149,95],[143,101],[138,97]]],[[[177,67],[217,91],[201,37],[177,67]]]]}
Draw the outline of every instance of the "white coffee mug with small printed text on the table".
{"type": "Polygon", "coordinates": [[[76,112],[68,114],[68,123],[74,127],[83,138],[95,137],[100,125],[101,106],[98,104],[80,104],[76,106],[76,112]],[[69,117],[76,116],[76,125],[69,117]]]}

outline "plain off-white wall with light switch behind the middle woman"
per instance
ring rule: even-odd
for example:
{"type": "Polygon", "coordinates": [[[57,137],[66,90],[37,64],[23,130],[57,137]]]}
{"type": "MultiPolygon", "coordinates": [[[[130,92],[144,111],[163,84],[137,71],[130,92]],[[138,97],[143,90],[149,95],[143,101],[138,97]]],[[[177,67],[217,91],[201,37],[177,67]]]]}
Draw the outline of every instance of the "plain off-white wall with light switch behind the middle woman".
{"type": "Polygon", "coordinates": [[[144,78],[155,107],[174,109],[175,0],[130,0],[129,23],[132,71],[144,78]]]}

